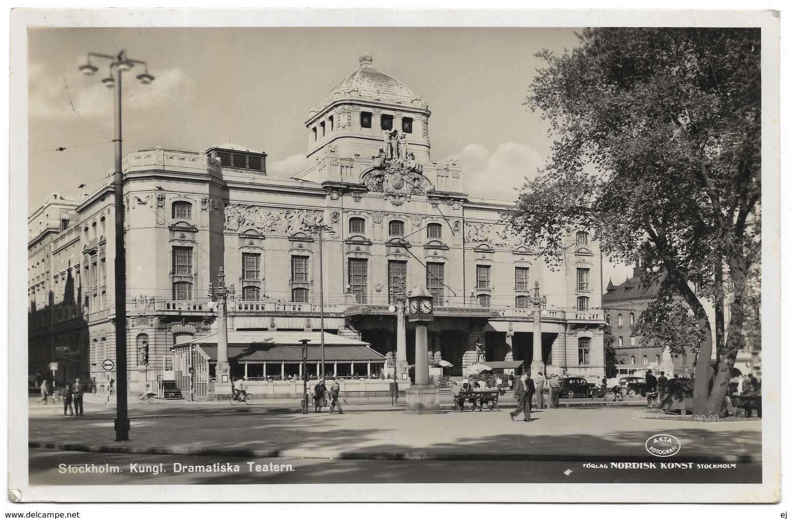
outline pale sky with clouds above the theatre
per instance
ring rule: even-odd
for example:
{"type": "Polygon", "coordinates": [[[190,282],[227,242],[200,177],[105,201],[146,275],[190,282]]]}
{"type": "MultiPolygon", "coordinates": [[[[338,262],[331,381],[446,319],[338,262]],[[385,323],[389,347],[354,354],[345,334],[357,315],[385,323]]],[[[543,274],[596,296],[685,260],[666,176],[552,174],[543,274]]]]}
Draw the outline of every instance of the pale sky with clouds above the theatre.
{"type": "MultiPolygon", "coordinates": [[[[576,28],[29,28],[28,202],[100,188],[112,172],[112,89],[82,74],[88,53],[144,61],[124,75],[123,150],[203,151],[234,142],[268,154],[273,176],[303,169],[310,108],[359,67],[402,81],[428,103],[432,160],[455,157],[463,190],[516,199],[550,156],[548,123],[523,105],[543,48],[576,28]],[[135,79],[147,71],[155,80],[135,79]],[[65,148],[58,151],[59,148],[65,148]],[[83,188],[79,186],[84,185],[83,188]]],[[[631,267],[607,263],[616,284],[631,267]]]]}

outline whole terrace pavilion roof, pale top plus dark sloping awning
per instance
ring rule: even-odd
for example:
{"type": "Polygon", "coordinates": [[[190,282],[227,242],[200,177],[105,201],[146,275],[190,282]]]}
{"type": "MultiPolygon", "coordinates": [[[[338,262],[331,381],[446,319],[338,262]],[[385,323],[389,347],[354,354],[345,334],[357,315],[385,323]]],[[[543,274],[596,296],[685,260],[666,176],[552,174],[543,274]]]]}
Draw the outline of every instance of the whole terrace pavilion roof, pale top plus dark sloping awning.
{"type": "MultiPolygon", "coordinates": [[[[303,344],[300,339],[310,339],[307,362],[322,360],[322,332],[319,331],[229,331],[228,360],[264,364],[303,362],[303,344]]],[[[385,357],[356,339],[325,332],[325,362],[385,362],[385,357]]],[[[188,344],[197,349],[210,362],[217,361],[217,334],[196,339],[188,344]]]]}

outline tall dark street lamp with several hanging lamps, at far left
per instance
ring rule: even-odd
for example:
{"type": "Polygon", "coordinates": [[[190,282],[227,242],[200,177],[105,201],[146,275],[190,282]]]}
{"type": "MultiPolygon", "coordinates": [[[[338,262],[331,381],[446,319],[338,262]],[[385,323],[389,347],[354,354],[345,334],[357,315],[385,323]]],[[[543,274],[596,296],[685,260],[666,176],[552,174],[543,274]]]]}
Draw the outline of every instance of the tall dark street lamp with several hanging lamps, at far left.
{"type": "Polygon", "coordinates": [[[136,59],[128,59],[126,51],[119,55],[104,55],[93,52],[88,53],[87,63],[79,67],[86,76],[97,73],[97,67],[91,65],[91,58],[109,60],[110,77],[101,82],[109,89],[114,90],[114,149],[115,172],[113,173],[112,190],[113,203],[116,213],[116,378],[118,389],[116,393],[116,441],[129,439],[129,415],[127,401],[127,254],[124,248],[124,174],[121,172],[121,73],[131,70],[135,63],[143,65],[145,72],[138,74],[138,80],[143,85],[154,81],[154,76],[148,73],[147,63],[136,59]]]}

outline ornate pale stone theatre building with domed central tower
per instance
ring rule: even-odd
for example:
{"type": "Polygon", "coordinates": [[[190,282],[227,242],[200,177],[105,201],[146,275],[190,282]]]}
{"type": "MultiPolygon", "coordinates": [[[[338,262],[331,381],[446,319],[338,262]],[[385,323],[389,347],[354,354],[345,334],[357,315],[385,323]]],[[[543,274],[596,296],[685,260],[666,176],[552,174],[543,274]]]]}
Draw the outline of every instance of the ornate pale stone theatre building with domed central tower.
{"type": "MultiPolygon", "coordinates": [[[[481,361],[527,369],[536,331],[547,372],[604,374],[597,244],[580,229],[550,269],[501,224],[512,201],[482,199],[455,161],[432,161],[431,115],[364,55],[310,109],[307,167],[292,178],[268,175],[261,148],[232,143],[130,153],[131,391],[156,381],[211,394],[218,328],[208,293],[221,275],[234,286],[234,376],[299,377],[299,339],[311,340],[315,375],[322,328],[329,373],[390,373],[398,307],[421,284],[435,305],[428,360],[450,362],[444,374],[481,361]]],[[[115,357],[112,201],[112,185],[52,195],[29,219],[31,375],[59,362],[100,391],[118,377],[102,368],[115,357]]],[[[413,337],[407,324],[409,364],[413,337]]]]}

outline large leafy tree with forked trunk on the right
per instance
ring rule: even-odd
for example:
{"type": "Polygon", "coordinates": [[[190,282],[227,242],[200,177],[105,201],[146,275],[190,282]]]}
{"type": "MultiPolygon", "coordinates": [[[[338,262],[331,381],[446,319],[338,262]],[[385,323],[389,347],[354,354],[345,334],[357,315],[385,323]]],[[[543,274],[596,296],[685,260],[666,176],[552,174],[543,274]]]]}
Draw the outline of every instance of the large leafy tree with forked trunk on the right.
{"type": "MultiPolygon", "coordinates": [[[[720,411],[759,290],[760,29],[586,29],[547,63],[526,104],[554,135],[549,165],[509,217],[558,260],[569,233],[641,261],[714,341],[695,367],[695,412],[720,411]],[[705,303],[714,307],[714,330],[705,303]],[[728,315],[728,322],[726,317],[728,315]]],[[[653,278],[653,279],[651,279],[653,278]]]]}

